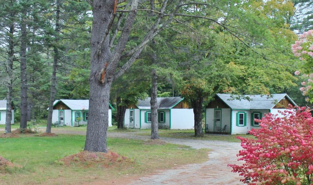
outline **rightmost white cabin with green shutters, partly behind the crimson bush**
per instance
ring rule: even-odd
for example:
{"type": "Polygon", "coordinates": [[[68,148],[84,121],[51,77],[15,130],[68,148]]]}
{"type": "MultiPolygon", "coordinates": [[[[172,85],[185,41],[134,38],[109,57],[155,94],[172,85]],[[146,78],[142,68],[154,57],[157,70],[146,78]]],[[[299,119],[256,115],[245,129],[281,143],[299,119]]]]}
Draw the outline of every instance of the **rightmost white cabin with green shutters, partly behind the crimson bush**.
{"type": "Polygon", "coordinates": [[[287,94],[245,96],[251,100],[231,100],[230,94],[216,94],[206,107],[206,131],[216,133],[225,128],[226,133],[246,134],[252,128],[259,128],[259,122],[254,119],[268,113],[282,117],[279,110],[287,110],[289,104],[297,106],[287,94]]]}

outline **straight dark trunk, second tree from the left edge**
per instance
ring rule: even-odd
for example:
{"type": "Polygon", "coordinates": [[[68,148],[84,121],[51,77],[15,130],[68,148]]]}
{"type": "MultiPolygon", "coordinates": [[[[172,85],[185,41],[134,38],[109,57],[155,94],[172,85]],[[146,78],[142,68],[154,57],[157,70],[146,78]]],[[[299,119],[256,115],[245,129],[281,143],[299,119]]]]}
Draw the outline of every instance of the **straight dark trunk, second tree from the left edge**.
{"type": "MultiPolygon", "coordinates": [[[[26,16],[26,12],[24,12],[26,16]]],[[[21,26],[21,122],[20,128],[26,129],[27,127],[27,68],[26,68],[26,48],[27,48],[27,29],[25,19],[22,20],[21,26]]]]}

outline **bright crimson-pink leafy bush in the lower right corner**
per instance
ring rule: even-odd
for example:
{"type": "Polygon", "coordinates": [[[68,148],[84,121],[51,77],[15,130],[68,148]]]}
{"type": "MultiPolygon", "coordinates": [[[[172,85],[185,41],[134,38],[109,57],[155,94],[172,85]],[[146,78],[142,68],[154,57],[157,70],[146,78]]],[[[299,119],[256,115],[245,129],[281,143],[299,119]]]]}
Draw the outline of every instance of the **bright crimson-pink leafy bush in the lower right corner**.
{"type": "Polygon", "coordinates": [[[237,154],[243,165],[228,164],[249,185],[313,185],[313,118],[310,109],[269,113],[260,129],[249,131],[256,139],[238,137],[243,150],[237,154]],[[289,115],[289,116],[287,116],[289,115]]]}

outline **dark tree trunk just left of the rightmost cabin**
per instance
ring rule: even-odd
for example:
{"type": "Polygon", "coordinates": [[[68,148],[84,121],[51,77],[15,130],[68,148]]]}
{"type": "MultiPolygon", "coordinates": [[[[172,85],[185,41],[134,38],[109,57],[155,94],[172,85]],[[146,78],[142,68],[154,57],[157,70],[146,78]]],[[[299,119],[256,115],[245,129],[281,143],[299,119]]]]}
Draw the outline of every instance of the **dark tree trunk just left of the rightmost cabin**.
{"type": "Polygon", "coordinates": [[[195,120],[195,137],[202,137],[202,103],[203,98],[198,97],[197,100],[191,101],[192,108],[193,108],[193,114],[194,114],[194,120],[195,120]]]}

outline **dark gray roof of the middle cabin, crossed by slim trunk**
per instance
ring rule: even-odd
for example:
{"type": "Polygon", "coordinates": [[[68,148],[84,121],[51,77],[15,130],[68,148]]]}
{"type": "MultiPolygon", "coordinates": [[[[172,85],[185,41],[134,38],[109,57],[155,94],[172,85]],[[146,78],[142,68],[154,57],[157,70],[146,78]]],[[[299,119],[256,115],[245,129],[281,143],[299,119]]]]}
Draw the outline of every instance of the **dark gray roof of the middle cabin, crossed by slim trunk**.
{"type": "MultiPolygon", "coordinates": [[[[157,98],[158,109],[171,109],[173,106],[177,105],[184,98],[182,97],[168,97],[168,98],[157,98]]],[[[137,103],[139,109],[150,109],[150,97],[145,100],[139,100],[137,103]]]]}

